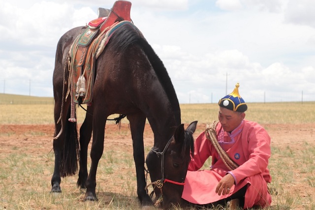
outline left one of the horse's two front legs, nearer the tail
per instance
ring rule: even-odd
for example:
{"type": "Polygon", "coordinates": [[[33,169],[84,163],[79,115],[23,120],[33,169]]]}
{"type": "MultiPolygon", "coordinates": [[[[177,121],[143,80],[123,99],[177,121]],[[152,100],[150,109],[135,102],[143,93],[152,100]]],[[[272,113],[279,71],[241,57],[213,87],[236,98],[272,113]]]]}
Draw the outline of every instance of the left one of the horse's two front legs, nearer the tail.
{"type": "Polygon", "coordinates": [[[89,201],[96,201],[96,171],[98,161],[101,158],[104,150],[104,130],[106,124],[107,116],[101,115],[98,113],[101,112],[94,112],[93,117],[93,142],[91,148],[91,169],[86,181],[86,197],[85,200],[89,201]],[[103,117],[102,117],[103,116],[103,117]]]}

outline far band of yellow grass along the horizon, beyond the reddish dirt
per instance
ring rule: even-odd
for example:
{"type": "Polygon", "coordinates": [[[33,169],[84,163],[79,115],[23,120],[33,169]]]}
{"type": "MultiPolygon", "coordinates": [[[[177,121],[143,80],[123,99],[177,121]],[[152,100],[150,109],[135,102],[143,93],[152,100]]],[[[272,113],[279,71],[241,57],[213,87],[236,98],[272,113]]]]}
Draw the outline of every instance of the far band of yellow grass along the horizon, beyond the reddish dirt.
{"type": "MultiPolygon", "coordinates": [[[[86,108],[86,105],[83,105],[86,108]]],[[[218,119],[217,104],[181,104],[182,122],[211,123],[218,119]]],[[[315,102],[249,103],[246,119],[260,124],[297,124],[315,122],[315,102]]],[[[0,124],[52,124],[53,104],[0,104],[0,124]]],[[[86,112],[77,108],[78,123],[82,123],[86,112]]],[[[118,117],[112,115],[109,119],[118,117]]],[[[107,121],[107,123],[114,123],[107,121]]],[[[122,120],[128,123],[128,120],[122,120]]]]}

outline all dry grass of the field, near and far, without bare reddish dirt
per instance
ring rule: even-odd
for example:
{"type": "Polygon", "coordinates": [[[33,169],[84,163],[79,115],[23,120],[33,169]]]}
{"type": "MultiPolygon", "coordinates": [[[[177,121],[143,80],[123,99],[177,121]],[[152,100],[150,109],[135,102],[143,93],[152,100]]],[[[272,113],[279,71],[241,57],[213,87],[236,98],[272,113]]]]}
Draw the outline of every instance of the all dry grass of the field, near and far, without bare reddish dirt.
{"type": "MultiPolygon", "coordinates": [[[[41,101],[41,104],[23,105],[1,103],[4,101],[2,96],[0,94],[0,128],[1,125],[7,124],[53,124],[53,104],[43,102],[50,101],[51,98],[42,100],[35,97],[32,100],[41,101]]],[[[24,101],[29,100],[31,100],[29,97],[24,97],[24,101]]],[[[18,101],[18,98],[15,98],[15,101],[18,101]]],[[[267,130],[269,124],[307,126],[315,123],[315,102],[249,103],[248,106],[246,119],[266,125],[267,130]]],[[[181,104],[181,110],[184,123],[193,120],[210,123],[218,118],[217,104],[181,104]]],[[[85,111],[79,108],[77,114],[78,122],[81,123],[85,111]]],[[[128,121],[124,119],[122,123],[128,121]]],[[[315,189],[315,143],[304,139],[295,141],[294,138],[290,139],[290,133],[281,134],[281,132],[279,128],[279,137],[272,138],[274,143],[269,164],[273,177],[271,186],[277,188],[279,195],[273,196],[272,207],[269,209],[313,210],[315,209],[314,194],[310,191],[301,193],[297,186],[315,189]],[[284,143],[275,143],[280,141],[284,143]],[[300,180],[300,183],[296,183],[296,180],[300,180]]],[[[82,202],[84,192],[76,188],[76,176],[62,180],[63,193],[49,193],[54,162],[53,151],[50,151],[52,135],[53,133],[31,130],[16,135],[14,131],[3,133],[0,130],[0,210],[134,210],[139,208],[132,150],[126,150],[132,143],[125,145],[125,142],[120,141],[129,138],[129,132],[117,130],[117,135],[111,139],[106,136],[108,142],[114,142],[116,149],[105,144],[97,175],[96,190],[99,198],[97,202],[82,202]],[[46,143],[42,142],[42,139],[45,139],[46,143]],[[15,144],[14,141],[20,145],[15,144]]],[[[310,132],[310,135],[314,134],[310,132]]],[[[145,146],[145,150],[148,152],[150,146],[145,146]]],[[[209,165],[210,161],[207,161],[205,167],[209,165]]]]}

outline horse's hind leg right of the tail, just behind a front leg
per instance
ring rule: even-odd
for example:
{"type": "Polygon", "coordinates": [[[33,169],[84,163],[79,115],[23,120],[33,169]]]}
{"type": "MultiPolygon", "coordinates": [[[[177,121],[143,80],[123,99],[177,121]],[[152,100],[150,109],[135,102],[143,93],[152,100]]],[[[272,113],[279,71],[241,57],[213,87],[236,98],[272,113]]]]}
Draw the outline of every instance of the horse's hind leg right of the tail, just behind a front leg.
{"type": "Polygon", "coordinates": [[[88,106],[87,114],[80,128],[80,170],[77,186],[85,189],[85,182],[88,178],[88,146],[92,136],[93,107],[88,106]]]}

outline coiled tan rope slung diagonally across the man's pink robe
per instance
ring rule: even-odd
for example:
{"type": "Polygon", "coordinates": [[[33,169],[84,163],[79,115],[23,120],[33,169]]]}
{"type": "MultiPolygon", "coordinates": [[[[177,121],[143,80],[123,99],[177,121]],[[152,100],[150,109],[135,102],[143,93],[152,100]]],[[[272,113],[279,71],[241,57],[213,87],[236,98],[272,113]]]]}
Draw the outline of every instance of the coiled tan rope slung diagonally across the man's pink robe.
{"type": "Polygon", "coordinates": [[[221,148],[219,145],[219,142],[217,140],[217,131],[216,127],[218,125],[219,121],[213,121],[211,125],[206,126],[206,137],[208,140],[211,141],[212,145],[215,147],[215,149],[218,151],[223,163],[225,166],[230,170],[234,170],[239,167],[227,154],[226,152],[221,148]]]}

